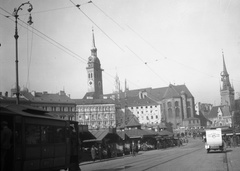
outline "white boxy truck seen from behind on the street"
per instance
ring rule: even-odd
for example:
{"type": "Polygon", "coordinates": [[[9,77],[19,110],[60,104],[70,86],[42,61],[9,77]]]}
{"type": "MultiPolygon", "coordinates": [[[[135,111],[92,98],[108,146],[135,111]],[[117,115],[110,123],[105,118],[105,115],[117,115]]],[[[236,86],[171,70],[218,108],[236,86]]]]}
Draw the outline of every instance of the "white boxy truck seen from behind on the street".
{"type": "Polygon", "coordinates": [[[221,128],[206,130],[205,149],[207,150],[207,153],[209,153],[210,150],[221,150],[222,152],[224,151],[221,128]]]}

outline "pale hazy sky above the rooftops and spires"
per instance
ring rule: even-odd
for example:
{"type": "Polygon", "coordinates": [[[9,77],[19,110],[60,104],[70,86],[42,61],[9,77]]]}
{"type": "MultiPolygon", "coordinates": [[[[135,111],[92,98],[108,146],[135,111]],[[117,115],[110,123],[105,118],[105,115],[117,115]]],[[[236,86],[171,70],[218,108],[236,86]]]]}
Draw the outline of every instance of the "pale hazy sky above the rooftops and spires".
{"type": "MultiPolygon", "coordinates": [[[[0,91],[15,86],[15,23],[22,0],[0,1],[0,91]],[[6,12],[7,11],[7,12],[6,12]]],[[[240,92],[239,0],[32,0],[33,29],[19,21],[19,85],[72,98],[87,92],[94,27],[104,94],[186,84],[196,102],[220,103],[222,49],[240,92]],[[81,11],[73,3],[80,4],[81,11]],[[92,20],[92,21],[91,21],[92,20]],[[24,27],[22,27],[21,25],[24,27]],[[58,44],[56,44],[56,42],[58,44]],[[53,45],[54,44],[54,45],[53,45]]],[[[19,11],[27,22],[28,5],[19,11]]],[[[236,97],[238,95],[236,94],[236,97]]]]}

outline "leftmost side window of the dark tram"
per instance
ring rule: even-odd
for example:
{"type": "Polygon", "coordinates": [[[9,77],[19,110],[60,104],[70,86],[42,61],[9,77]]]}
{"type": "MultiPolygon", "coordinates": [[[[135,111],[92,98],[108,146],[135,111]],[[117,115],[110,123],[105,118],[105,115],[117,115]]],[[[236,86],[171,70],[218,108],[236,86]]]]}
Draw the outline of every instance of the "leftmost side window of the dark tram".
{"type": "Polygon", "coordinates": [[[40,133],[40,126],[26,125],[26,144],[39,144],[40,133]]]}

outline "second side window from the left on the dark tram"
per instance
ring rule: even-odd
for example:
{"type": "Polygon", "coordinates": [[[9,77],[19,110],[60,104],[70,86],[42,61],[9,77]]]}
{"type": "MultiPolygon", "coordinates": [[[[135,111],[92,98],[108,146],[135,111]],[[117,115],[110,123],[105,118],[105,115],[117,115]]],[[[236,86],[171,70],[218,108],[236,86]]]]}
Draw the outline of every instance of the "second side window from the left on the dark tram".
{"type": "Polygon", "coordinates": [[[54,132],[52,126],[41,126],[41,143],[53,143],[54,132]]]}

